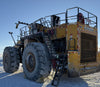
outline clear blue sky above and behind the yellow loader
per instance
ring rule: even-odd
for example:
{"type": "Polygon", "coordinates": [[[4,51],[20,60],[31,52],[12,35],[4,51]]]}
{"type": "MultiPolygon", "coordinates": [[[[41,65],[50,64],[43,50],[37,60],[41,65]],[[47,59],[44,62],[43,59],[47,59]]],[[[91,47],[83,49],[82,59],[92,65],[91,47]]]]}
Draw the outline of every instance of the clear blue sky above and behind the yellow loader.
{"type": "Polygon", "coordinates": [[[17,40],[19,30],[15,29],[17,21],[27,23],[35,20],[65,12],[71,7],[81,7],[98,17],[98,46],[100,47],[100,1],[99,0],[0,0],[0,56],[6,46],[13,46],[14,43],[8,34],[14,32],[17,40]]]}

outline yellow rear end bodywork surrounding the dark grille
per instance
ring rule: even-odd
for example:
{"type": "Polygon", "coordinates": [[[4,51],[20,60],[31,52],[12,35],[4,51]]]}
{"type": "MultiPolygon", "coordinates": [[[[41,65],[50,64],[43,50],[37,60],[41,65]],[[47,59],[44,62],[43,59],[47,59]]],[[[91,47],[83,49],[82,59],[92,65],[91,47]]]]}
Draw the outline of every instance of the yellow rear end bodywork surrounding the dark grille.
{"type": "MultiPolygon", "coordinates": [[[[75,49],[68,48],[68,71],[71,76],[79,76],[91,72],[95,72],[100,69],[100,53],[97,53],[95,62],[81,63],[81,33],[87,33],[96,36],[97,40],[97,29],[89,27],[81,23],[69,24],[67,26],[67,48],[69,47],[69,39],[75,39],[75,49]]],[[[72,41],[73,44],[73,41],[72,41]]],[[[97,45],[97,43],[96,43],[97,45]]],[[[98,49],[98,48],[97,48],[98,49]]]]}

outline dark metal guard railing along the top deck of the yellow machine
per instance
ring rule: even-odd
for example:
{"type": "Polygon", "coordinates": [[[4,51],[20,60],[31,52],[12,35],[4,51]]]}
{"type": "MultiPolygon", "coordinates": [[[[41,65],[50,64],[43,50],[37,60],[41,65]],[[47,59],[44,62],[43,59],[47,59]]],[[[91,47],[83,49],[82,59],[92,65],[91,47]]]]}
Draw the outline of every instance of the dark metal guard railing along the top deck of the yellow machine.
{"type": "MultiPolygon", "coordinates": [[[[60,22],[60,24],[62,24],[62,23],[71,23],[71,22],[77,22],[77,15],[78,15],[78,13],[80,13],[80,12],[86,12],[87,13],[87,16],[86,17],[84,17],[84,20],[85,20],[85,24],[89,24],[90,26],[91,26],[91,24],[94,24],[93,26],[96,26],[97,27],[97,16],[96,15],[94,15],[94,14],[92,14],[92,13],[90,13],[90,12],[88,12],[88,11],[86,11],[86,10],[84,10],[84,9],[82,9],[82,8],[80,8],[80,7],[73,7],[73,8],[69,8],[69,9],[67,9],[66,10],[66,12],[61,12],[61,13],[58,13],[58,14],[53,14],[53,15],[55,15],[55,16],[58,16],[58,17],[60,17],[60,19],[59,19],[59,22],[60,22]],[[76,9],[75,11],[77,11],[76,12],[76,14],[74,14],[74,15],[69,15],[69,10],[72,10],[72,9],[76,9]],[[63,14],[64,14],[64,17],[62,17],[63,16],[63,14]],[[95,18],[95,21],[94,20],[92,20],[92,18],[95,18]],[[87,21],[87,19],[89,19],[89,20],[91,20],[91,23],[90,22],[88,22],[87,21]]],[[[49,28],[49,27],[51,27],[52,28],[52,21],[51,21],[51,16],[52,15],[49,15],[49,16],[45,16],[45,17],[41,17],[41,18],[39,18],[39,19],[37,19],[37,20],[35,20],[33,23],[31,23],[31,24],[41,24],[41,25],[43,25],[45,28],[47,27],[47,28],[49,28]]],[[[59,25],[59,24],[56,24],[56,25],[59,25]]],[[[22,27],[21,29],[25,29],[27,26],[24,26],[24,27],[22,27]]]]}

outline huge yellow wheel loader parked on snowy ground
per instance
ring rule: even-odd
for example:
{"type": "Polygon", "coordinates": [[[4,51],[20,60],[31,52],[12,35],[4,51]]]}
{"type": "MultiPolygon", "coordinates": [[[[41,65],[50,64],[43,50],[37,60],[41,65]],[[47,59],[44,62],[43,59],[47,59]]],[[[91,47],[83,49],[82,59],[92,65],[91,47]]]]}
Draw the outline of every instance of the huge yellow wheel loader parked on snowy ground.
{"type": "Polygon", "coordinates": [[[100,70],[96,15],[74,7],[30,24],[19,21],[16,28],[19,24],[25,26],[20,28],[17,43],[4,49],[6,72],[17,71],[22,63],[26,78],[37,81],[53,68],[52,85],[57,86],[64,73],[76,77],[100,70]]]}

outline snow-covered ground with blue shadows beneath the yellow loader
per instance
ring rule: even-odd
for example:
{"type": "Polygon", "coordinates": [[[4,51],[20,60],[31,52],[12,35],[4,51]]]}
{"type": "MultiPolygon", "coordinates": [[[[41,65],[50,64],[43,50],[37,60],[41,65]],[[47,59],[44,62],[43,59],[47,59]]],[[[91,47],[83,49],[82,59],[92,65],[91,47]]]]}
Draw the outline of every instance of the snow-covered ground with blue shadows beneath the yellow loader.
{"type": "MultiPolygon", "coordinates": [[[[25,79],[21,66],[13,74],[5,73],[2,61],[0,60],[0,87],[53,87],[50,82],[48,79],[40,84],[25,79]]],[[[58,87],[100,87],[100,72],[84,75],[79,78],[67,78],[64,75],[58,87]]]]}

